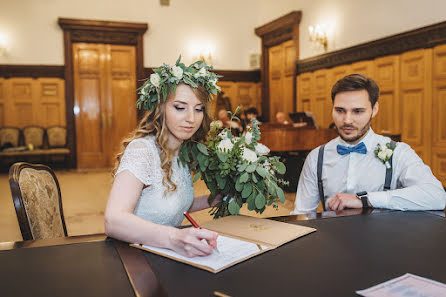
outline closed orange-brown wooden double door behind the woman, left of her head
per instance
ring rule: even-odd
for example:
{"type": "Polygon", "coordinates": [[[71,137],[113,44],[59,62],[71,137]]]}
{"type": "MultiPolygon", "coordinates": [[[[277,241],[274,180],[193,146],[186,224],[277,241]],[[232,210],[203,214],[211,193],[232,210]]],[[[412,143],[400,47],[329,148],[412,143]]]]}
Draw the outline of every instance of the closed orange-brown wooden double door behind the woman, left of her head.
{"type": "Polygon", "coordinates": [[[73,44],[77,166],[110,167],[121,139],[136,126],[135,49],[73,44]]]}

